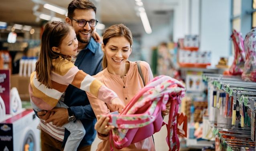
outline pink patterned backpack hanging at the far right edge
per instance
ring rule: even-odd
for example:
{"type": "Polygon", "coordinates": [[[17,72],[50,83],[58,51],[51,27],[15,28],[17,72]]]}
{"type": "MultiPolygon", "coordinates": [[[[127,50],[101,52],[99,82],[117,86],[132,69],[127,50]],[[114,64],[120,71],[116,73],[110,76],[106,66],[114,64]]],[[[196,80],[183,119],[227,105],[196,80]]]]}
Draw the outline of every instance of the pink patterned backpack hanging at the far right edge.
{"type": "Polygon", "coordinates": [[[244,40],[246,60],[242,79],[256,82],[256,28],[246,34],[244,40]]]}

